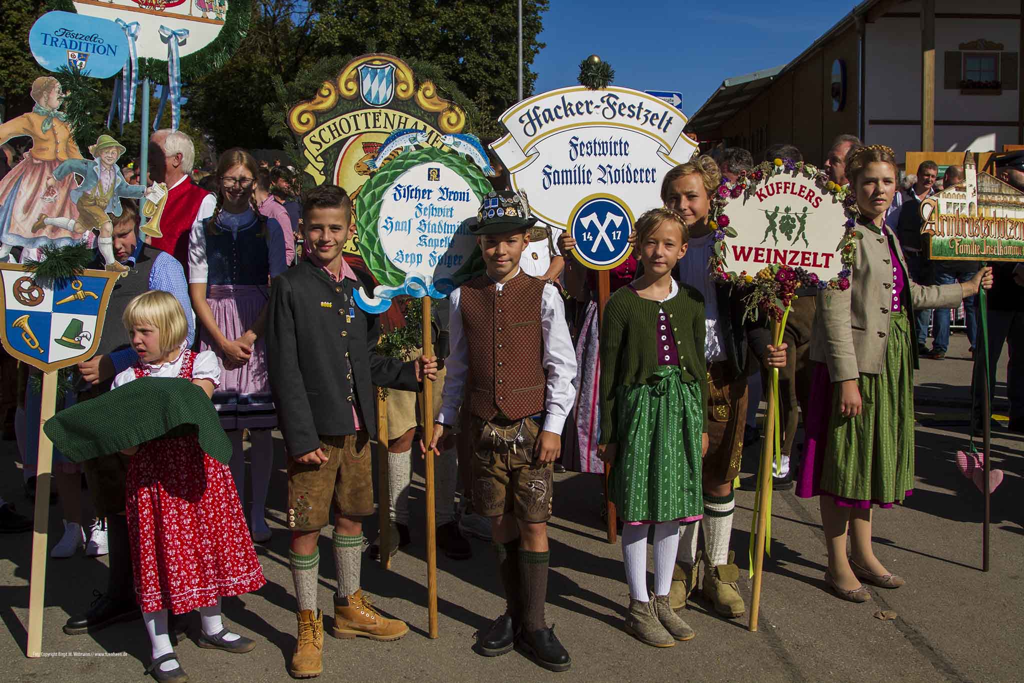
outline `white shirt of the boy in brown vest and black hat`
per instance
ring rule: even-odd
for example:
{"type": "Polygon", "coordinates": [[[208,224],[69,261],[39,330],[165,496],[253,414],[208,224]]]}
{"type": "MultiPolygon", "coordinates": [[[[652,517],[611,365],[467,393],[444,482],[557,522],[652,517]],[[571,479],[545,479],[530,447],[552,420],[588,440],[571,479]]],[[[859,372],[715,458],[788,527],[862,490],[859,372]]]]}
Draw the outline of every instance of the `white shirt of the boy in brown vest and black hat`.
{"type": "MultiPolygon", "coordinates": [[[[505,285],[496,283],[496,287],[501,292],[505,285]]],[[[449,334],[452,350],[444,360],[444,391],[441,395],[441,410],[437,414],[437,422],[445,425],[458,422],[459,407],[462,404],[469,373],[469,342],[463,334],[461,295],[460,288],[450,296],[452,306],[449,334]]],[[[544,420],[544,431],[561,434],[565,418],[575,402],[572,380],[575,379],[577,362],[575,349],[565,323],[565,304],[558,290],[550,284],[544,286],[541,296],[541,333],[544,337],[542,362],[547,371],[547,391],[544,398],[547,417],[544,420]]]]}

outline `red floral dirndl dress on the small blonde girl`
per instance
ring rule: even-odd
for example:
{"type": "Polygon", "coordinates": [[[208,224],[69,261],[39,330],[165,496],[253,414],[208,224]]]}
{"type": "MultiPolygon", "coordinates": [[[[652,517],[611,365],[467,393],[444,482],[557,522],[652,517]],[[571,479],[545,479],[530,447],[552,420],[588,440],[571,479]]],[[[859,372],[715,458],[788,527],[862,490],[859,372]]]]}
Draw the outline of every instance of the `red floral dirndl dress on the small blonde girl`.
{"type": "MultiPolygon", "coordinates": [[[[194,351],[178,377],[191,379],[194,351]]],[[[135,378],[150,370],[135,366],[135,378]]],[[[234,480],[196,435],[143,443],[127,473],[135,596],[143,612],[175,614],[217,604],[266,583],[234,480]]]]}

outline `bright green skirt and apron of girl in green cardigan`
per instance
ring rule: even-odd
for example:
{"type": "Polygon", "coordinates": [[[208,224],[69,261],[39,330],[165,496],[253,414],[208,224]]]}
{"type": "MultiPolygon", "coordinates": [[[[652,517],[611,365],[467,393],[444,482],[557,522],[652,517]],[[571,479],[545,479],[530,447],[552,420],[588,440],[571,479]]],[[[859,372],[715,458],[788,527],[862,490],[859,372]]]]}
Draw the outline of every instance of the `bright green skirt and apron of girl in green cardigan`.
{"type": "Polygon", "coordinates": [[[627,522],[690,519],[703,513],[700,493],[700,386],[662,366],[647,384],[618,396],[618,455],[609,496],[627,522]]]}

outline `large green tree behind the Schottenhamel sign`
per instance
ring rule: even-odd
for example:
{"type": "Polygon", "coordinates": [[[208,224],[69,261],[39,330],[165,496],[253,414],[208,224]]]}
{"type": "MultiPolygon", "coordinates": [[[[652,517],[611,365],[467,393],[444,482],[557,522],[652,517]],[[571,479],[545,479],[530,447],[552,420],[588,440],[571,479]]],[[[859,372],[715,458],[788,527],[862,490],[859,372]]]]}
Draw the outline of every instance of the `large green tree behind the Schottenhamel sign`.
{"type": "MultiPolygon", "coordinates": [[[[548,0],[523,0],[523,90],[548,0]]],[[[516,101],[516,0],[260,0],[249,35],[221,70],[184,88],[193,124],[218,150],[280,147],[261,116],[285,84],[325,57],[387,52],[434,65],[479,110],[477,132],[497,136],[516,101]]],[[[304,93],[310,97],[313,90],[304,93]]]]}

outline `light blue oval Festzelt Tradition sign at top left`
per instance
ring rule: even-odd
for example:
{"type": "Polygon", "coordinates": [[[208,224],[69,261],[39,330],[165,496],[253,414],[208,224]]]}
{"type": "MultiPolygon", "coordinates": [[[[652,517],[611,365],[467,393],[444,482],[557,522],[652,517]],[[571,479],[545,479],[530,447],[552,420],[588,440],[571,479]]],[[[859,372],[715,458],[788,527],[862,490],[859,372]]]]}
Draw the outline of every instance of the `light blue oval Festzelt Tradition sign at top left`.
{"type": "Polygon", "coordinates": [[[128,39],[121,27],[72,12],[46,12],[36,19],[29,47],[43,69],[78,68],[92,78],[114,76],[128,59],[128,39]]]}

